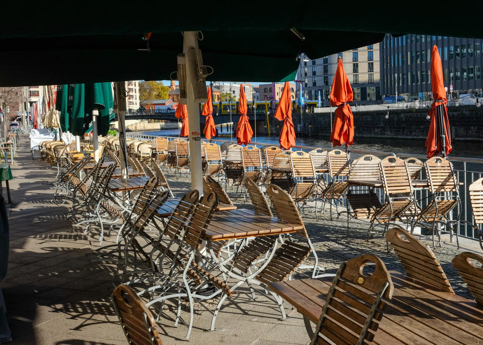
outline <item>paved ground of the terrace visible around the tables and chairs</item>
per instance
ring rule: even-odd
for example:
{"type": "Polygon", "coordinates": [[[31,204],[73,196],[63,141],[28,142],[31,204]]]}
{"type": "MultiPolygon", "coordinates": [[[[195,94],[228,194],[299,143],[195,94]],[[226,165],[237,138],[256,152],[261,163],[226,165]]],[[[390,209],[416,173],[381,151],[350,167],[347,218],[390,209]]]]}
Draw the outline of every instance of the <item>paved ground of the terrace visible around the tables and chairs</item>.
{"type": "MultiPolygon", "coordinates": [[[[28,141],[27,136],[21,139],[16,164],[12,166],[14,205],[8,210],[11,250],[8,275],[2,281],[14,341],[124,344],[125,337],[109,301],[110,267],[87,258],[98,248],[98,236],[95,232],[83,235],[83,229],[75,228],[66,219],[68,204],[50,202],[54,191],[49,182],[56,171],[40,159],[31,159],[28,141]]],[[[171,175],[168,179],[178,196],[189,188],[187,177],[174,180],[171,175]]],[[[374,253],[389,269],[402,270],[394,254],[385,251],[380,234],[371,241],[365,240],[366,223],[351,224],[351,236],[346,239],[345,219],[330,221],[324,214],[319,220],[306,220],[319,258],[328,270],[333,271],[342,261],[363,253],[374,253]]],[[[106,238],[105,244],[112,240],[114,236],[106,238]]],[[[476,249],[474,241],[464,245],[476,249]]],[[[450,264],[460,251],[454,244],[444,243],[435,253],[456,292],[468,296],[450,264]]],[[[251,301],[240,294],[235,302],[242,304],[244,312],[235,303],[225,302],[217,318],[217,330],[213,332],[206,331],[211,314],[197,308],[190,343],[268,345],[303,344],[309,340],[300,314],[289,305],[286,308],[289,318],[280,321],[280,311],[265,298],[251,301]]],[[[168,317],[172,315],[168,313],[168,317]]],[[[186,343],[186,327],[173,327],[172,320],[162,318],[161,328],[163,343],[186,343]]]]}

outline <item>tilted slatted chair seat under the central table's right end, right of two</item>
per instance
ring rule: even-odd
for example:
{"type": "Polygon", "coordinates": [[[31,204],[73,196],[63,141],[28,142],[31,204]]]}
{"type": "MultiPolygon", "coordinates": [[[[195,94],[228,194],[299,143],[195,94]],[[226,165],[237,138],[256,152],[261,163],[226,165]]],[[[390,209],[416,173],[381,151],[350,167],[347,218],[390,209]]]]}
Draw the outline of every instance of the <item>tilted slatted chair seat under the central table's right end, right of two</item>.
{"type": "Polygon", "coordinates": [[[309,257],[311,252],[312,249],[307,245],[285,241],[256,279],[265,284],[284,281],[309,257]]]}

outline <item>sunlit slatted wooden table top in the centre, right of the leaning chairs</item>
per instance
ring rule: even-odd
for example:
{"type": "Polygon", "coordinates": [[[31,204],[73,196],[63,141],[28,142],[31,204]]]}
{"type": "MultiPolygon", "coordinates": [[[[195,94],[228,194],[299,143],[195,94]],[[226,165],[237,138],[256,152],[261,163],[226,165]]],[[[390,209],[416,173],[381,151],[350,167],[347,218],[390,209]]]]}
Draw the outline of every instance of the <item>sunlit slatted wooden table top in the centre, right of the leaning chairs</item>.
{"type": "Polygon", "coordinates": [[[240,239],[253,236],[295,233],[303,225],[290,224],[254,211],[239,208],[213,215],[205,233],[212,241],[240,239]]]}

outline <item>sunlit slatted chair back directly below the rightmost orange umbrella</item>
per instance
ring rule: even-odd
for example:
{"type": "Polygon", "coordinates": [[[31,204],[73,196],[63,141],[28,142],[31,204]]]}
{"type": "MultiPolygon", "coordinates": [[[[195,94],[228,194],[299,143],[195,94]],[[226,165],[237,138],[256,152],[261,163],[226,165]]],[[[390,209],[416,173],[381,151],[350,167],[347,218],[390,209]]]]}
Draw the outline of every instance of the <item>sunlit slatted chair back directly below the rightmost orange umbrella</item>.
{"type": "Polygon", "coordinates": [[[424,166],[430,193],[458,195],[456,174],[453,170],[453,164],[449,160],[432,157],[424,163],[424,166]]]}

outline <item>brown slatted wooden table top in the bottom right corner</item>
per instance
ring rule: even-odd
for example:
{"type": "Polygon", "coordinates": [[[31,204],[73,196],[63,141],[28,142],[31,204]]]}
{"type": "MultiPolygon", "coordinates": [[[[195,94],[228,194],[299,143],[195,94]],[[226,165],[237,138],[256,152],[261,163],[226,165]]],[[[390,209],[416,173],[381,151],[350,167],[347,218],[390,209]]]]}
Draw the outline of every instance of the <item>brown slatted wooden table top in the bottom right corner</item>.
{"type": "MultiPolygon", "coordinates": [[[[394,295],[387,303],[376,344],[475,344],[483,342],[483,309],[476,302],[439,292],[391,271],[394,295]]],[[[270,283],[270,288],[317,323],[332,277],[270,283]]]]}

